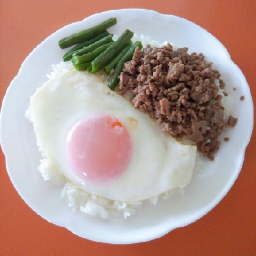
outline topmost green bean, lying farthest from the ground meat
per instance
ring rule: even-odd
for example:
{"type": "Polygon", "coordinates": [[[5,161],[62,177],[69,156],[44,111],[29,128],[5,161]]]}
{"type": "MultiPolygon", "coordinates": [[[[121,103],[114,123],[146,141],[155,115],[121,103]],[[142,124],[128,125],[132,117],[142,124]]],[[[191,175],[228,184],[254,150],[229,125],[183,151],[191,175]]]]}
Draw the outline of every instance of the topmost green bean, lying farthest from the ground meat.
{"type": "Polygon", "coordinates": [[[69,46],[73,46],[74,44],[82,43],[83,41],[90,40],[96,35],[101,34],[104,30],[116,24],[116,18],[110,18],[107,21],[102,22],[90,29],[82,30],[78,33],[71,35],[70,37],[65,37],[59,41],[59,46],[61,49],[68,48],[69,46]]]}

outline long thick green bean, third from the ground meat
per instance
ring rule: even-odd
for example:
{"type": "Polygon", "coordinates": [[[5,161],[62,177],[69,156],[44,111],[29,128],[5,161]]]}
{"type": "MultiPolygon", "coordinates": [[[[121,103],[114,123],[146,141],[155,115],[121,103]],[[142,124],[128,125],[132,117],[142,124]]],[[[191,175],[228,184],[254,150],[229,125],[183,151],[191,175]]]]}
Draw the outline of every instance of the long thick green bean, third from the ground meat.
{"type": "Polygon", "coordinates": [[[116,40],[110,48],[102,52],[96,59],[91,62],[91,66],[87,68],[88,73],[94,73],[104,68],[105,65],[115,59],[116,55],[129,44],[130,39],[133,37],[133,32],[126,29],[123,34],[116,40]]]}

